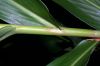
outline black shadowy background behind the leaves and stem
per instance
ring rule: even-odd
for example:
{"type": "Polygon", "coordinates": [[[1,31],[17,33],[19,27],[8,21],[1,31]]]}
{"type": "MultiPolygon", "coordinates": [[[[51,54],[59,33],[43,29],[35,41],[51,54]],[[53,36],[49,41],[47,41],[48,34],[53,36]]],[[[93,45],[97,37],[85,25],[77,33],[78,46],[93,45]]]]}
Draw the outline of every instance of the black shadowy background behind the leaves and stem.
{"type": "MultiPolygon", "coordinates": [[[[74,17],[61,6],[52,2],[52,0],[42,0],[49,8],[50,13],[56,20],[66,27],[93,29],[84,22],[74,17]]],[[[0,20],[1,23],[6,23],[0,20]]],[[[50,36],[51,37],[51,36],[50,36]]],[[[73,45],[65,42],[57,42],[61,50],[57,53],[50,52],[40,35],[13,35],[0,42],[0,66],[5,65],[28,65],[28,66],[45,66],[55,57],[65,53],[65,47],[73,45]]],[[[91,56],[88,66],[99,66],[100,51],[97,49],[91,56]],[[94,65],[95,64],[95,65],[94,65]]]]}

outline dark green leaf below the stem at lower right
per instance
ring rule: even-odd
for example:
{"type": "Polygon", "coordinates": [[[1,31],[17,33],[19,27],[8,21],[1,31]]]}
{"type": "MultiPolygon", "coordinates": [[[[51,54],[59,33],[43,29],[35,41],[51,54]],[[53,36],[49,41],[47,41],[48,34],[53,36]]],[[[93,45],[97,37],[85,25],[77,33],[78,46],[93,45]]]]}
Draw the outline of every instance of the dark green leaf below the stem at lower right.
{"type": "Polygon", "coordinates": [[[47,66],[85,66],[97,43],[95,40],[83,40],[71,52],[58,57],[47,66]]]}

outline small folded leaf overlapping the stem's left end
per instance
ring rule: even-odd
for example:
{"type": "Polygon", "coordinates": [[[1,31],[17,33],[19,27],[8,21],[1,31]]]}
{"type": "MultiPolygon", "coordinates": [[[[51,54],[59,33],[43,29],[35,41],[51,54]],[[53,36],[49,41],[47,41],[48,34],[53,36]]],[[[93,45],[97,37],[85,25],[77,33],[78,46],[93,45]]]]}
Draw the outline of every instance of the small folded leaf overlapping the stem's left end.
{"type": "Polygon", "coordinates": [[[5,38],[15,34],[15,28],[11,26],[5,26],[0,28],[0,41],[4,40],[5,38]]]}

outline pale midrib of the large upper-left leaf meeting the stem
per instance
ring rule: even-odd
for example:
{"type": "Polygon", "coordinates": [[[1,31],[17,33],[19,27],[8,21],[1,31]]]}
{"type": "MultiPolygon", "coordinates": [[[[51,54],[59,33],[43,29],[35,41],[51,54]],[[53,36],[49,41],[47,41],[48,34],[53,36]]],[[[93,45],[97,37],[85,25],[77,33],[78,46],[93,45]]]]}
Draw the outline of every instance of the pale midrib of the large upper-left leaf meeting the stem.
{"type": "Polygon", "coordinates": [[[45,20],[42,17],[35,14],[34,12],[31,12],[27,8],[21,6],[19,3],[15,2],[13,0],[9,0],[9,1],[12,5],[14,5],[17,8],[21,9],[23,12],[25,12],[27,15],[31,16],[32,18],[36,18],[40,23],[44,24],[45,26],[47,26],[47,27],[56,27],[53,24],[51,24],[50,22],[48,22],[47,20],[45,20]]]}

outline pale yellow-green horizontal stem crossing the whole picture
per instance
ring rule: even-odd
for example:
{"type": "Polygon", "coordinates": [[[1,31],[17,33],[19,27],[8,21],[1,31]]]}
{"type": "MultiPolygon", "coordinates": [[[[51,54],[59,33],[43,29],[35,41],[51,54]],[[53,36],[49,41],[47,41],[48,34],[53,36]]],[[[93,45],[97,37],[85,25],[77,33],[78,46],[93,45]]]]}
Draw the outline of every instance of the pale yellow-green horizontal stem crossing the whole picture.
{"type": "Polygon", "coordinates": [[[48,28],[42,26],[18,26],[10,24],[0,24],[4,26],[16,27],[17,34],[40,34],[40,35],[57,35],[57,36],[78,36],[78,37],[100,37],[100,31],[78,28],[48,28]]]}

